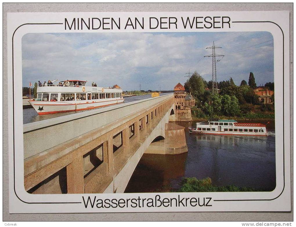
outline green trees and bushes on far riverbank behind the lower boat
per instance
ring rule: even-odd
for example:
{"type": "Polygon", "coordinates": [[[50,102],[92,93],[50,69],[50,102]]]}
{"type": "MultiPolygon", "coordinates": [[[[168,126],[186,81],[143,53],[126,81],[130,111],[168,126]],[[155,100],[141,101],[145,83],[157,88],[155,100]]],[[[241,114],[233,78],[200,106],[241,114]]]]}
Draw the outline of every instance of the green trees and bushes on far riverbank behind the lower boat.
{"type": "MultiPolygon", "coordinates": [[[[185,82],[187,92],[191,92],[195,98],[195,106],[192,107],[193,120],[208,118],[230,119],[274,119],[274,95],[270,103],[260,101],[256,91],[274,91],[274,82],[268,82],[264,86],[257,86],[252,72],[249,82],[242,80],[236,85],[233,79],[217,82],[218,92],[212,92],[213,82],[204,80],[197,72],[185,82]]],[[[215,87],[215,86],[214,86],[215,87]]]]}

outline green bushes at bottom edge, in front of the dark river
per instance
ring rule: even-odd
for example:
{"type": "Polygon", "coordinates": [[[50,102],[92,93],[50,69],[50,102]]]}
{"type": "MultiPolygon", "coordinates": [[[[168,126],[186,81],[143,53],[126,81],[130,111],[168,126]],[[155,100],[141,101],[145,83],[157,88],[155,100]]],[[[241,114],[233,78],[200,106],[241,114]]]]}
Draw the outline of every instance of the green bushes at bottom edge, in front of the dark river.
{"type": "Polygon", "coordinates": [[[210,177],[198,180],[195,177],[184,177],[177,192],[250,192],[258,191],[251,187],[238,187],[235,185],[215,186],[210,177]]]}

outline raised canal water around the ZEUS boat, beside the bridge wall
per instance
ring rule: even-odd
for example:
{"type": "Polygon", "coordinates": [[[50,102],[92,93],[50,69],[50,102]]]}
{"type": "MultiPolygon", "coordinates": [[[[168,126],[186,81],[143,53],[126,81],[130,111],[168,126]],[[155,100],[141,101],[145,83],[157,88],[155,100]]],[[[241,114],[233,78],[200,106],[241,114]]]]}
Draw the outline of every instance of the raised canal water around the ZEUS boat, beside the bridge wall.
{"type": "MultiPolygon", "coordinates": [[[[161,93],[160,96],[162,95],[167,95],[169,93],[161,93]]],[[[139,96],[131,96],[131,97],[126,97],[124,98],[124,102],[132,102],[132,101],[137,101],[141,99],[149,99],[151,98],[151,95],[139,95],[139,96]]],[[[64,112],[64,113],[57,113],[57,114],[47,114],[47,115],[38,115],[37,112],[33,108],[27,108],[23,109],[22,117],[23,117],[23,124],[39,121],[39,120],[46,120],[50,118],[56,118],[60,116],[65,116],[73,113],[79,113],[79,112],[84,112],[84,111],[89,111],[89,110],[81,110],[81,111],[72,111],[72,112],[64,112]]]]}

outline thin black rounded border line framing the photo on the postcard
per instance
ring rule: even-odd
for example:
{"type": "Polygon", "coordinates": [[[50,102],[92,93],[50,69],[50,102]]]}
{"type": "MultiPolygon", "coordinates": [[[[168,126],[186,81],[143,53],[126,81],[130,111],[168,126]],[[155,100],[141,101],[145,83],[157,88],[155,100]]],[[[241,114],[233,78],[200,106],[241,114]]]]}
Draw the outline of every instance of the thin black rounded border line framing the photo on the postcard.
{"type": "MultiPolygon", "coordinates": [[[[275,23],[275,22],[272,22],[272,21],[232,21],[232,23],[273,23],[275,25],[277,25],[280,29],[281,27],[275,23]]],[[[57,25],[57,24],[63,24],[63,23],[25,23],[25,24],[22,24],[20,26],[18,26],[13,35],[12,35],[12,93],[13,93],[13,163],[14,163],[14,191],[15,191],[15,124],[14,124],[14,58],[13,58],[13,38],[14,38],[14,35],[15,35],[15,32],[17,31],[18,28],[20,28],[21,26],[24,26],[24,25],[57,25]]],[[[281,29],[281,32],[283,34],[283,107],[284,107],[284,32],[283,30],[281,29]]],[[[284,117],[284,108],[283,108],[283,117],[284,117]]],[[[284,122],[283,122],[283,126],[284,126],[284,122]]],[[[283,127],[284,128],[284,127],[283,127]]],[[[283,129],[283,136],[284,136],[284,129],[283,129]]],[[[284,137],[283,137],[284,138],[284,137]]],[[[284,145],[284,141],[283,141],[283,145],[284,145]]],[[[284,169],[284,163],[285,163],[285,160],[284,160],[284,146],[283,146],[283,170],[284,169]]],[[[285,188],[285,172],[284,172],[284,187],[283,187],[283,190],[281,191],[281,193],[275,197],[274,199],[277,199],[279,196],[281,196],[281,194],[283,193],[284,191],[284,188],[285,188]]],[[[15,191],[15,195],[17,196],[17,193],[15,191]]],[[[24,203],[27,203],[27,204],[81,204],[82,202],[25,202],[23,201],[22,199],[20,199],[18,196],[17,198],[24,202],[24,203]]],[[[213,200],[213,201],[271,201],[271,200],[274,200],[274,199],[233,199],[233,200],[213,200]]]]}

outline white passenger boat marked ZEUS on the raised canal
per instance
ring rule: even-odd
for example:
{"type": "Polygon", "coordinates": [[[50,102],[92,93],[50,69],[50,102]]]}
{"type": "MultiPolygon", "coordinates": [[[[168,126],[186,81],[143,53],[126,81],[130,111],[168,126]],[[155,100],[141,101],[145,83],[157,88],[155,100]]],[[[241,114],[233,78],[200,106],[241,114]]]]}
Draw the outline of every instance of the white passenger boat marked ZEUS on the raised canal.
{"type": "Polygon", "coordinates": [[[39,85],[37,99],[28,102],[39,115],[94,109],[124,102],[122,88],[118,85],[104,88],[86,86],[86,82],[67,80],[64,85],[39,85]]]}

